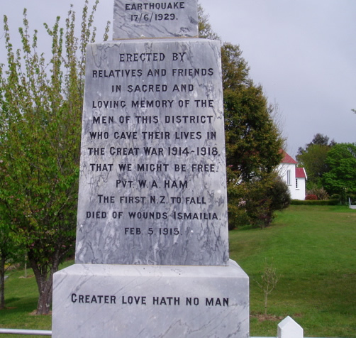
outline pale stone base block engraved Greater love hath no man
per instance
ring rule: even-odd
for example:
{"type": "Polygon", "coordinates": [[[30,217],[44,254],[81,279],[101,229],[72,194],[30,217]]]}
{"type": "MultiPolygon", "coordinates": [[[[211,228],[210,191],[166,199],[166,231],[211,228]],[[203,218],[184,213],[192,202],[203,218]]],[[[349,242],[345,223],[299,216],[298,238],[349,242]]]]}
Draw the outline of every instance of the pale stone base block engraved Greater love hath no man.
{"type": "Polygon", "coordinates": [[[249,281],[228,266],[74,264],[53,279],[52,337],[249,337],[249,281]]]}

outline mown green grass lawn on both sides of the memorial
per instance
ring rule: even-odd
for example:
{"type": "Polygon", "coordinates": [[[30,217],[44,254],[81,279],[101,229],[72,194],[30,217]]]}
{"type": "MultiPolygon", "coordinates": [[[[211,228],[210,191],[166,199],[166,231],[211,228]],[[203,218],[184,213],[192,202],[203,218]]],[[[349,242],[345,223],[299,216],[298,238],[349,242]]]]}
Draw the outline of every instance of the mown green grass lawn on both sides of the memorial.
{"type": "MultiPolygon", "coordinates": [[[[276,337],[278,322],[289,315],[305,337],[356,337],[356,210],[291,206],[278,213],[272,227],[229,235],[230,258],[250,276],[251,336],[276,337]],[[255,282],[265,259],[280,276],[267,317],[255,282]]],[[[50,316],[31,315],[37,305],[35,278],[21,277],[23,271],[9,272],[0,327],[50,329],[50,316]]]]}

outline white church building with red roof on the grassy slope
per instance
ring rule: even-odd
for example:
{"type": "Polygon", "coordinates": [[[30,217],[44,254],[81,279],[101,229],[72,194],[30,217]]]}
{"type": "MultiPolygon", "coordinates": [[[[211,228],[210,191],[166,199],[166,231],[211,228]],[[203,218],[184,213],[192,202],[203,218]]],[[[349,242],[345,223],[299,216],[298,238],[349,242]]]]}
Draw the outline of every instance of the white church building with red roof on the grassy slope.
{"type": "Polygon", "coordinates": [[[283,159],[279,164],[278,172],[282,180],[287,183],[292,200],[305,200],[306,197],[306,170],[297,168],[296,160],[282,151],[283,159]]]}

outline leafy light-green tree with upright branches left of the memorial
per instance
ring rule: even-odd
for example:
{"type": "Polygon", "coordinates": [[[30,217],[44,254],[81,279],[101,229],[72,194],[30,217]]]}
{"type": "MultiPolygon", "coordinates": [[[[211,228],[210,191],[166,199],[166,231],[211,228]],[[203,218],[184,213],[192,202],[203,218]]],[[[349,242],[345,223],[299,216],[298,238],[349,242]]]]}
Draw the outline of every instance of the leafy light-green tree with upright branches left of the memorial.
{"type": "Polygon", "coordinates": [[[52,38],[49,60],[38,53],[37,31],[30,38],[26,9],[19,28],[22,45],[16,51],[4,16],[0,203],[14,236],[28,252],[38,284],[38,314],[49,312],[52,275],[74,248],[85,50],[94,42],[98,2],[88,13],[85,1],[79,38],[72,9],[65,28],[60,28],[59,17],[53,28],[45,24],[52,38]]]}

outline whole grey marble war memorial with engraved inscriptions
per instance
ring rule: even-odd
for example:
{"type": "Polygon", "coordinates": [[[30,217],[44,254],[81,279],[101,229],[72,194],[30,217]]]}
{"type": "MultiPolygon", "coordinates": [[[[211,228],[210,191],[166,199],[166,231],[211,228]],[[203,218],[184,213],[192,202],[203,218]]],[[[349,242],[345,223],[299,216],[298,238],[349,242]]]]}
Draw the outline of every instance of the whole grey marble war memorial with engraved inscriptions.
{"type": "Polygon", "coordinates": [[[75,264],[52,337],[249,337],[228,256],[221,46],[197,1],[115,0],[87,48],[75,264]]]}

